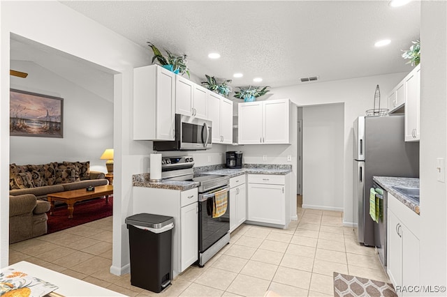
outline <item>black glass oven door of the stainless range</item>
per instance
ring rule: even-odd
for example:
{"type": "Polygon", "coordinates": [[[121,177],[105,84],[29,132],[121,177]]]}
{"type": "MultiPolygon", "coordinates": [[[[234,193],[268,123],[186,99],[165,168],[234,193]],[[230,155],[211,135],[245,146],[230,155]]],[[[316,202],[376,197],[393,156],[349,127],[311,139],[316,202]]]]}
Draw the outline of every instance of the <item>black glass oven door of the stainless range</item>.
{"type": "Polygon", "coordinates": [[[228,186],[200,194],[198,199],[198,251],[205,252],[230,231],[230,192],[228,186]],[[212,218],[214,193],[228,191],[226,212],[219,218],[212,218]]]}

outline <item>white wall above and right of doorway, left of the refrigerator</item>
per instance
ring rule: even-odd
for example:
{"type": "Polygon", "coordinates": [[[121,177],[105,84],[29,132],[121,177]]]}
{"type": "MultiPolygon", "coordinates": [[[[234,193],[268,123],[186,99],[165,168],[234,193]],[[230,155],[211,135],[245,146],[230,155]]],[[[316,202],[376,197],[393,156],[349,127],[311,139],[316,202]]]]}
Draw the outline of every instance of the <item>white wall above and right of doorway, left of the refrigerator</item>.
{"type": "MultiPolygon", "coordinates": [[[[406,73],[394,73],[389,75],[376,75],[371,77],[360,77],[354,79],[344,79],[333,82],[316,82],[298,84],[296,86],[286,86],[272,89],[270,99],[291,98],[298,106],[323,105],[332,103],[344,103],[344,153],[343,153],[343,191],[339,193],[344,197],[344,223],[353,223],[352,213],[352,124],[357,116],[365,115],[365,110],[374,107],[374,92],[379,84],[381,90],[381,107],[388,106],[387,94],[393,87],[404,78],[406,73]]],[[[296,128],[295,128],[296,129],[296,128]]],[[[296,142],[288,148],[291,152],[297,150],[296,142]]],[[[286,158],[288,151],[279,148],[278,158],[286,158]]],[[[262,155],[262,150],[254,152],[262,155]]],[[[295,153],[296,155],[296,153],[295,153]]],[[[258,159],[257,159],[258,160],[258,159]]],[[[296,161],[293,160],[293,167],[296,161]]],[[[306,172],[303,172],[303,177],[306,172]]],[[[296,178],[295,178],[296,179],[296,178]]],[[[307,187],[303,184],[303,189],[307,187]]]]}

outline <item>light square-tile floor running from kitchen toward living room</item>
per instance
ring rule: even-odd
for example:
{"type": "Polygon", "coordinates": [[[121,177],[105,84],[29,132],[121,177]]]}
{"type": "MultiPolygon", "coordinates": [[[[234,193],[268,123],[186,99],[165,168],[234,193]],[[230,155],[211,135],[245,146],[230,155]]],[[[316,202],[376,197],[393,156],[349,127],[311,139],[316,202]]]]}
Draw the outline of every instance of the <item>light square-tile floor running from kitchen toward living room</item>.
{"type": "Polygon", "coordinates": [[[333,296],[334,271],[389,282],[342,213],[298,208],[298,219],[284,230],[243,224],[204,268],[191,266],[161,294],[109,272],[112,217],[14,243],[9,263],[29,261],[128,296],[333,296]]]}

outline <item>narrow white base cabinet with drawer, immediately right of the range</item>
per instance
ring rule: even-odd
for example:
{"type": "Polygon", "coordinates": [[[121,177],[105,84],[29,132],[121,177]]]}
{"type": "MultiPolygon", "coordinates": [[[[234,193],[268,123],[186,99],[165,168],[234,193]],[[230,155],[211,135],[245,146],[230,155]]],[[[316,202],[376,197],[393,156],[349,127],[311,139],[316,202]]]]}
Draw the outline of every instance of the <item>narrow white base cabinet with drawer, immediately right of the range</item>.
{"type": "Polygon", "coordinates": [[[247,220],[245,174],[230,178],[230,232],[247,220]]]}

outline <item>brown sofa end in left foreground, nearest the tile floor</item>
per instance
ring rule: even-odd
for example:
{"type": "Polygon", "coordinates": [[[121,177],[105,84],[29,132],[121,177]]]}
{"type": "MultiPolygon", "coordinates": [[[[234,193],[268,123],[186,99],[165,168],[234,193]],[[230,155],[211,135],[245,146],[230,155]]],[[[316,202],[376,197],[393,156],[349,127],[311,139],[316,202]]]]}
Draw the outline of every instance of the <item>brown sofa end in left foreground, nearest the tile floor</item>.
{"type": "Polygon", "coordinates": [[[17,243],[47,233],[50,202],[32,194],[9,196],[9,243],[17,243]]]}

